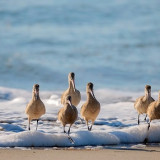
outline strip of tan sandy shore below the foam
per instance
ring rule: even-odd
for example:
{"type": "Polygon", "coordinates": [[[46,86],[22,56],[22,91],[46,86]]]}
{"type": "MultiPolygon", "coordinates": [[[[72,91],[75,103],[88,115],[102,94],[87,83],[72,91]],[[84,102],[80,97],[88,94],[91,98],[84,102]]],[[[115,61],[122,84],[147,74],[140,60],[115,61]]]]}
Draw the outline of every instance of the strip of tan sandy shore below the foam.
{"type": "Polygon", "coordinates": [[[101,150],[0,149],[1,160],[158,160],[159,158],[160,147],[101,150]]]}

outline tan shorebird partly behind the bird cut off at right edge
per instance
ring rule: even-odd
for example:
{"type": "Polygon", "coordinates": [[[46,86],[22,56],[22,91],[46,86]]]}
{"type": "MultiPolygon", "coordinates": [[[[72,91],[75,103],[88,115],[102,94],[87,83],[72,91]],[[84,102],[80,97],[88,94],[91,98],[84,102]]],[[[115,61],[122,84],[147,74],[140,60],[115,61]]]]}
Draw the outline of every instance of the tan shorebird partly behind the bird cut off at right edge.
{"type": "MultiPolygon", "coordinates": [[[[140,120],[139,120],[140,115],[147,113],[148,106],[153,101],[154,101],[154,99],[151,97],[151,86],[146,85],[145,86],[145,95],[137,98],[134,103],[134,108],[138,112],[138,125],[140,124],[140,120]]],[[[144,120],[146,120],[146,118],[147,118],[147,114],[146,114],[144,120]]]]}

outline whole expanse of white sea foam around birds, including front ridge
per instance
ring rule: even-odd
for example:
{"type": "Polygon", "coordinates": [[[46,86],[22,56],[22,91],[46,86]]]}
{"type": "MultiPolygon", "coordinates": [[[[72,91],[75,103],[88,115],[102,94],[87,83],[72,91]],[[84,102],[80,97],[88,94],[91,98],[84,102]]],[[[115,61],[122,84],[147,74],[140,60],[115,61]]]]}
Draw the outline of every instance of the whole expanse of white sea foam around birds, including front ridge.
{"type": "MultiPolygon", "coordinates": [[[[143,143],[147,136],[147,123],[141,116],[141,124],[137,125],[137,113],[133,100],[143,93],[120,92],[114,90],[95,90],[95,95],[101,103],[101,112],[95,121],[92,132],[87,130],[85,123],[77,120],[71,128],[71,144],[63,133],[57,121],[61,92],[40,92],[46,106],[46,114],[39,121],[38,131],[36,122],[32,122],[31,131],[27,131],[27,117],[24,113],[26,104],[31,99],[31,92],[0,87],[1,95],[9,95],[9,99],[1,99],[0,106],[0,147],[77,147],[102,146],[143,143]]],[[[78,111],[86,99],[82,93],[82,101],[78,111]]],[[[156,99],[157,93],[153,93],[156,99]]],[[[80,115],[79,115],[80,117],[80,115]]],[[[66,127],[67,130],[67,127],[66,127]]],[[[160,142],[160,125],[151,123],[148,134],[149,142],[160,142]]]]}

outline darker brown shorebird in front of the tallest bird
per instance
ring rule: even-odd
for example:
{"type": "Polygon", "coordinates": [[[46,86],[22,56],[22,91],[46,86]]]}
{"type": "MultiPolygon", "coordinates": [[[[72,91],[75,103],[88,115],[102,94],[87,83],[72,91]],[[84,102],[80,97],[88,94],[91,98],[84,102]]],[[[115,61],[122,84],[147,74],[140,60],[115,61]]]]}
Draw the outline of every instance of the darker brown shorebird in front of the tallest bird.
{"type": "Polygon", "coordinates": [[[65,104],[64,106],[59,110],[58,112],[58,120],[62,123],[63,125],[63,131],[65,131],[65,126],[66,124],[69,124],[69,129],[68,129],[68,138],[73,142],[72,138],[70,137],[70,128],[72,124],[77,120],[78,117],[78,111],[77,108],[72,105],[72,97],[70,95],[65,97],[65,104]]]}

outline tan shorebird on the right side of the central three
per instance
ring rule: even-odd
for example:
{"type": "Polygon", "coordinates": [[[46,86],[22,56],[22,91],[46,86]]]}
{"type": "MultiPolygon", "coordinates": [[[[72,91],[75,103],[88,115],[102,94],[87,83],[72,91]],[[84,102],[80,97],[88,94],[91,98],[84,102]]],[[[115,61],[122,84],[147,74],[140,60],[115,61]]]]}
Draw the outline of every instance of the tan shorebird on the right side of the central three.
{"type": "Polygon", "coordinates": [[[81,107],[81,116],[86,121],[88,130],[92,130],[92,125],[94,124],[99,112],[100,103],[95,98],[93,92],[93,83],[89,82],[86,87],[87,101],[81,107]],[[92,124],[89,127],[88,122],[91,120],[92,124]]]}

